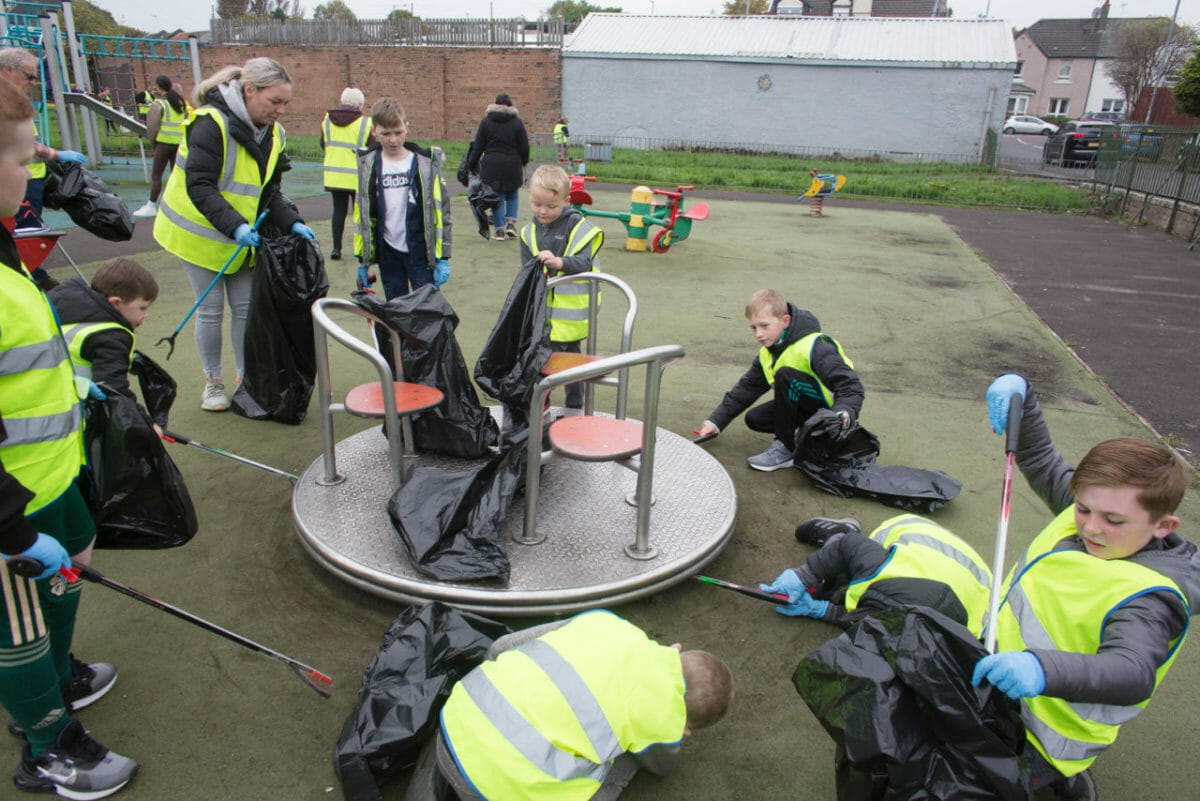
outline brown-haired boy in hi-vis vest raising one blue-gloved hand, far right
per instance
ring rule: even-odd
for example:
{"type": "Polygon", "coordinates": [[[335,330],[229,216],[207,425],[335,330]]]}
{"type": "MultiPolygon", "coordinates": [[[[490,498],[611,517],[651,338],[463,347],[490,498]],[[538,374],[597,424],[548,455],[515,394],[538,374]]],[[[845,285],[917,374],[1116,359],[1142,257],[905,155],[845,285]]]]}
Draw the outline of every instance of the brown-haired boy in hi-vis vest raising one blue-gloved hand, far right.
{"type": "Polygon", "coordinates": [[[997,434],[1021,398],[1016,464],[1055,513],[1004,579],[996,654],[974,668],[1021,701],[1033,788],[1094,799],[1088,767],[1145,707],[1200,602],[1200,549],[1175,510],[1190,470],[1162,445],[1100,442],[1072,466],[1021,375],[988,387],[997,434]]]}

